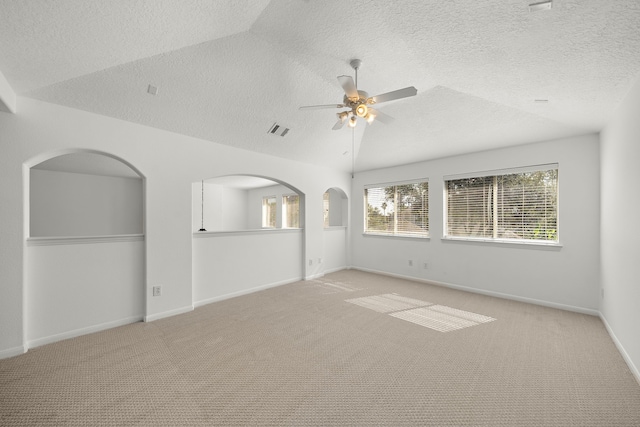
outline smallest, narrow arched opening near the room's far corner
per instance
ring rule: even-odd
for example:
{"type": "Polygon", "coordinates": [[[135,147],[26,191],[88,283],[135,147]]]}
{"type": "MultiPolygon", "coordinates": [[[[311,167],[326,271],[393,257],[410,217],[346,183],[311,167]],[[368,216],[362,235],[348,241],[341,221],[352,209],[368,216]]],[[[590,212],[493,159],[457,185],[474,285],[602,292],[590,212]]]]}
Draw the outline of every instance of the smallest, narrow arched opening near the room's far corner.
{"type": "Polygon", "coordinates": [[[343,270],[348,266],[349,200],[340,188],[327,189],[323,198],[325,273],[343,270]]]}

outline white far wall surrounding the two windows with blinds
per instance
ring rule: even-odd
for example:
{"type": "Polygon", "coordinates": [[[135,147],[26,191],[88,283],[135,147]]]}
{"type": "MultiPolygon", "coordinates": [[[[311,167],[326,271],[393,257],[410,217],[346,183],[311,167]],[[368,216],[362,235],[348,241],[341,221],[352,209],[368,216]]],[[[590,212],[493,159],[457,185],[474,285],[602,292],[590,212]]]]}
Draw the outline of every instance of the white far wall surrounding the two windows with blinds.
{"type": "Polygon", "coordinates": [[[598,136],[587,135],[358,173],[352,266],[597,313],[598,150],[598,136]],[[548,163],[559,164],[561,248],[441,239],[444,176],[548,163]],[[364,236],[364,185],[420,178],[429,179],[431,238],[364,236]]]}

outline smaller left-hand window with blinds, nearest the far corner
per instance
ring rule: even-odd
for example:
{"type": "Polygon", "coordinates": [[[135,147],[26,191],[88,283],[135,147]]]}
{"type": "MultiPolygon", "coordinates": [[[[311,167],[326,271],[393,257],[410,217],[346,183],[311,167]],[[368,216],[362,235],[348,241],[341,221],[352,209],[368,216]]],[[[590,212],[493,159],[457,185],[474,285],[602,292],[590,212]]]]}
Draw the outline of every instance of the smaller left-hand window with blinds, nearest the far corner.
{"type": "Polygon", "coordinates": [[[429,183],[424,181],[367,186],[364,232],[429,236],[429,183]]]}

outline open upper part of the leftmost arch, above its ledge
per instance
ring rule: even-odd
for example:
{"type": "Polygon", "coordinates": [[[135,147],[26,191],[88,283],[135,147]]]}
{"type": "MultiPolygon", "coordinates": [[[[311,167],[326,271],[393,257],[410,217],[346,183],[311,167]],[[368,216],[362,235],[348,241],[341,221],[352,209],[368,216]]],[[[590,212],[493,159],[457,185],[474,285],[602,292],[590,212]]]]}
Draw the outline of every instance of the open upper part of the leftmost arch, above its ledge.
{"type": "Polygon", "coordinates": [[[29,175],[29,237],[144,232],[143,179],[121,160],[68,153],[34,164],[29,175]]]}

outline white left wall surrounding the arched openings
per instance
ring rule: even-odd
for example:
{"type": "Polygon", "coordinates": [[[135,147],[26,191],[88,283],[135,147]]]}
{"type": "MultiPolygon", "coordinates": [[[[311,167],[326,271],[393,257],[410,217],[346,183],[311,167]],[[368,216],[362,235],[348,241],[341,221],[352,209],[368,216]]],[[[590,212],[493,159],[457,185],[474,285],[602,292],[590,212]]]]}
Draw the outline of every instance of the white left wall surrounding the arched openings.
{"type": "MultiPolygon", "coordinates": [[[[77,150],[107,153],[145,178],[145,318],[193,308],[192,183],[202,177],[256,175],[294,185],[305,195],[303,253],[323,255],[322,194],[348,188],[349,175],[29,98],[18,114],[0,113],[0,358],[26,346],[23,260],[31,166],[77,150]],[[25,172],[27,171],[27,172],[25,172]],[[25,199],[25,197],[27,197],[25,199]],[[162,296],[152,297],[152,287],[162,296]]],[[[26,266],[26,275],[30,273],[26,266]]],[[[303,277],[321,274],[305,263],[303,277]]],[[[28,308],[26,310],[28,311],[28,308]]],[[[28,319],[27,319],[28,320],[28,319]]]]}

